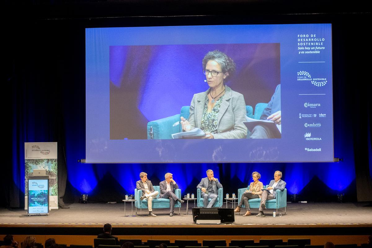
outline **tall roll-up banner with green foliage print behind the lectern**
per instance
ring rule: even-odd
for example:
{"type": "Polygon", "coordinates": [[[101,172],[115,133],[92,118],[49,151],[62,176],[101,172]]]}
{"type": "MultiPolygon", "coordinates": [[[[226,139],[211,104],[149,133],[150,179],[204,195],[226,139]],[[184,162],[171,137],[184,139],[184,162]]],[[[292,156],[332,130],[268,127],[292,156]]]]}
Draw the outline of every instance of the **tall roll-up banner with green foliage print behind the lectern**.
{"type": "Polygon", "coordinates": [[[28,177],[43,176],[44,170],[49,178],[49,209],[58,209],[57,142],[25,142],[25,210],[28,208],[28,177]]]}

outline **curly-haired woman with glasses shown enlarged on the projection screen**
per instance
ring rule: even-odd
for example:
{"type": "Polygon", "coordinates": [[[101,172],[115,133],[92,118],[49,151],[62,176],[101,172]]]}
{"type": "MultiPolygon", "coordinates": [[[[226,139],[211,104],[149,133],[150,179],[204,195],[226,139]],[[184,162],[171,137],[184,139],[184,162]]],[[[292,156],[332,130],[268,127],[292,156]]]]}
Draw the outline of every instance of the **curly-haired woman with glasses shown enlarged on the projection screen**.
{"type": "Polygon", "coordinates": [[[190,116],[181,116],[183,131],[199,128],[207,139],[243,139],[247,136],[246,102],[242,94],[231,90],[225,82],[235,72],[235,63],[223,52],[208,52],[203,58],[203,74],[209,88],[195,94],[190,116]]]}

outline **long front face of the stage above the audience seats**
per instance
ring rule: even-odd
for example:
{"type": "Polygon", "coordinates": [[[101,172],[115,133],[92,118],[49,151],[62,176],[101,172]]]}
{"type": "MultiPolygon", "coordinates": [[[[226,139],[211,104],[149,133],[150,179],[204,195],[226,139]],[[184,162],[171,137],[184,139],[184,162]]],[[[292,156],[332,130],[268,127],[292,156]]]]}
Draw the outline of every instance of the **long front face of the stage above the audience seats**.
{"type": "MultiPolygon", "coordinates": [[[[136,236],[148,233],[151,236],[241,236],[257,232],[262,235],[371,235],[372,223],[323,223],[323,224],[115,224],[113,235],[136,236]]],[[[66,224],[66,223],[0,223],[0,234],[18,235],[97,235],[102,232],[103,223],[66,224]]]]}

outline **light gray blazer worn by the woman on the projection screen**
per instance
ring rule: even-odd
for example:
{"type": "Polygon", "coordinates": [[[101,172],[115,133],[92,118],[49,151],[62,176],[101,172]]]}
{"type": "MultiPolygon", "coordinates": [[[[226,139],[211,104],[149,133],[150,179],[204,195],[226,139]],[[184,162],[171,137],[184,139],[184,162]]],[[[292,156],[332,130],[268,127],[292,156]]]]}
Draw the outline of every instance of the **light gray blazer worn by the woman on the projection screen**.
{"type": "MultiPolygon", "coordinates": [[[[215,139],[244,139],[247,136],[246,102],[244,96],[230,87],[225,86],[225,96],[222,100],[218,113],[217,133],[213,134],[215,139]]],[[[189,123],[192,128],[201,128],[205,98],[210,88],[198,94],[194,94],[190,104],[189,123]]]]}

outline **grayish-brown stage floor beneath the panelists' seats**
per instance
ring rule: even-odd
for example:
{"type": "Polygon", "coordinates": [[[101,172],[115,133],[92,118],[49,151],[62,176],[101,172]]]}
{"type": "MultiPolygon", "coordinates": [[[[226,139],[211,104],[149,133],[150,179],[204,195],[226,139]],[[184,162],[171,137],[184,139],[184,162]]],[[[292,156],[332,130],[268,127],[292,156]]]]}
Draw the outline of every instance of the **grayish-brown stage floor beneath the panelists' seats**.
{"type": "MultiPolygon", "coordinates": [[[[126,204],[126,215],[129,215],[131,204],[126,204]]],[[[74,203],[68,206],[70,209],[51,210],[49,216],[27,216],[23,209],[0,209],[0,225],[196,225],[192,215],[185,214],[186,203],[181,208],[180,216],[178,208],[173,217],[169,216],[169,209],[153,209],[153,213],[158,216],[156,218],[147,216],[147,209],[142,209],[142,217],[127,217],[124,215],[124,203],[74,203]]],[[[284,209],[280,209],[278,212],[283,215],[276,218],[273,218],[273,211],[265,210],[266,216],[259,218],[255,216],[257,209],[252,209],[252,215],[247,217],[242,216],[245,213],[245,209],[242,209],[240,215],[235,215],[233,225],[372,225],[372,207],[367,203],[288,203],[286,215],[284,209]]],[[[139,209],[137,213],[139,215],[139,209]]]]}

